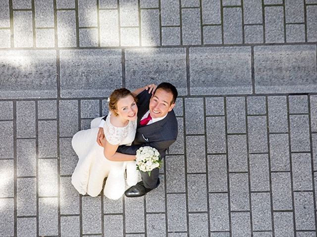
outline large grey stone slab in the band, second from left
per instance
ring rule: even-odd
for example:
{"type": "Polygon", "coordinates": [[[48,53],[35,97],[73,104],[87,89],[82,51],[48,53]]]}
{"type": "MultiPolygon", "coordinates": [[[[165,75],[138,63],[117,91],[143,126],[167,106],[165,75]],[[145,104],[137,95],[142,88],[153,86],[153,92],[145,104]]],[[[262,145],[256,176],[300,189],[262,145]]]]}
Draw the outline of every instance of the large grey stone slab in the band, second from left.
{"type": "Polygon", "coordinates": [[[106,97],[121,85],[121,50],[60,51],[61,97],[106,97]]]}

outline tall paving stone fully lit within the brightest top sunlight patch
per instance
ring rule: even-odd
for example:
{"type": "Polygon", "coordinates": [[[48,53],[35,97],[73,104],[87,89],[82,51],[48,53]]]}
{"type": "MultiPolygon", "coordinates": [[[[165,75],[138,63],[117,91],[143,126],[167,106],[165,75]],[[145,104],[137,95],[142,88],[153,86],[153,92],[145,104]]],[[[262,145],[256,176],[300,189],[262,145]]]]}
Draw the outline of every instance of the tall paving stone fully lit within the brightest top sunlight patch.
{"type": "Polygon", "coordinates": [[[100,45],[119,46],[119,21],[117,10],[100,10],[100,45]]]}

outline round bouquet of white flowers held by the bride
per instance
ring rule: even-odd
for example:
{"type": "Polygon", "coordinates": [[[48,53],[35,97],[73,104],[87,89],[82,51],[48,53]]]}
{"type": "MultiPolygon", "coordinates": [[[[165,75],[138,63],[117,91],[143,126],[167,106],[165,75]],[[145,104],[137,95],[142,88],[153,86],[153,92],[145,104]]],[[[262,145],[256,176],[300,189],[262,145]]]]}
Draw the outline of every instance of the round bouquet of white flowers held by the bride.
{"type": "Polygon", "coordinates": [[[149,176],[153,169],[160,168],[161,161],[159,160],[159,152],[153,147],[140,147],[135,157],[137,169],[148,172],[149,176]]]}

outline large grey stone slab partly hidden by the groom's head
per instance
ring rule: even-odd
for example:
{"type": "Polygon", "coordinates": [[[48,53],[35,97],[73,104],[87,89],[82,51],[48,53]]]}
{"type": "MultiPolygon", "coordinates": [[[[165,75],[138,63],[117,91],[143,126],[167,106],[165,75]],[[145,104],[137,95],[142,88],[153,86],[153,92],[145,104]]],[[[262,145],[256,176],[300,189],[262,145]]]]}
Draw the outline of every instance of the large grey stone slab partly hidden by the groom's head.
{"type": "MultiPolygon", "coordinates": [[[[119,64],[121,67],[121,64],[119,64]]],[[[184,48],[127,49],[125,51],[126,87],[135,89],[149,83],[168,81],[179,95],[187,94],[184,48]]]]}

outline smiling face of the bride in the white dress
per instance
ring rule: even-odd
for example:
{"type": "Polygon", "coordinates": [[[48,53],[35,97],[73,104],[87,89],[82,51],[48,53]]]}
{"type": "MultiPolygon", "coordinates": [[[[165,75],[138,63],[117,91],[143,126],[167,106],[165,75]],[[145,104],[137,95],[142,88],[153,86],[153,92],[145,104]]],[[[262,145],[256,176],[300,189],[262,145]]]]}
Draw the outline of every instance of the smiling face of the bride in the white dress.
{"type": "Polygon", "coordinates": [[[137,119],[138,107],[131,95],[118,100],[116,113],[124,119],[134,121],[137,119]]]}

